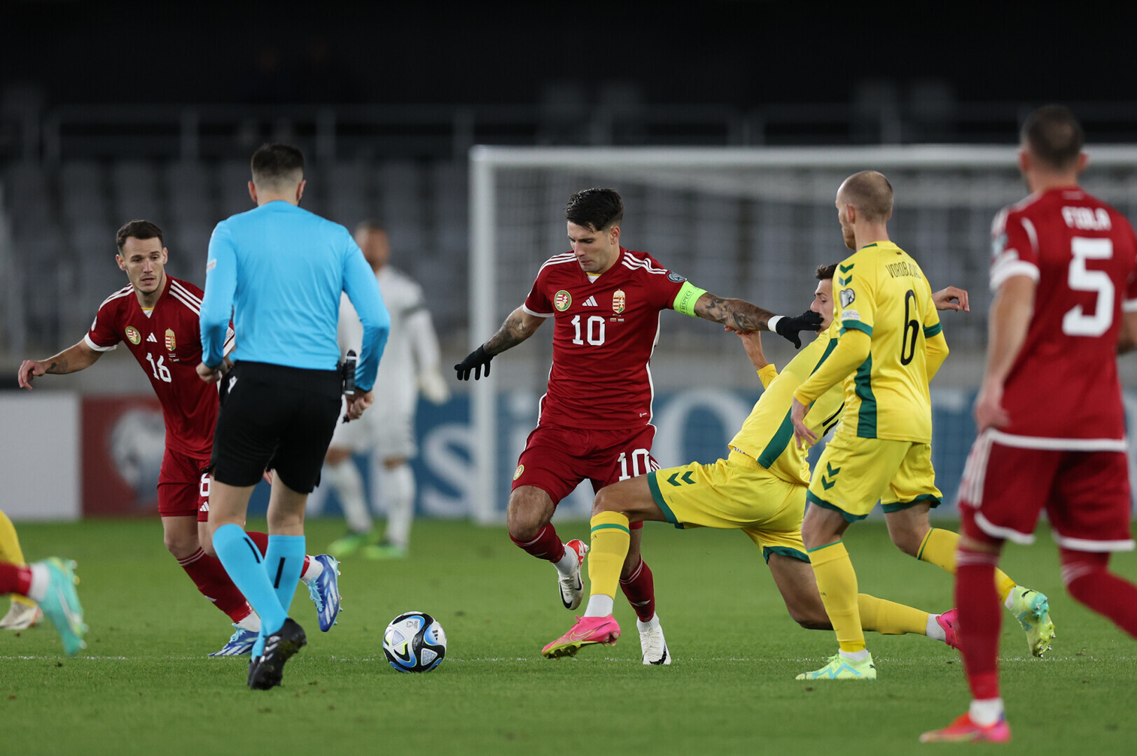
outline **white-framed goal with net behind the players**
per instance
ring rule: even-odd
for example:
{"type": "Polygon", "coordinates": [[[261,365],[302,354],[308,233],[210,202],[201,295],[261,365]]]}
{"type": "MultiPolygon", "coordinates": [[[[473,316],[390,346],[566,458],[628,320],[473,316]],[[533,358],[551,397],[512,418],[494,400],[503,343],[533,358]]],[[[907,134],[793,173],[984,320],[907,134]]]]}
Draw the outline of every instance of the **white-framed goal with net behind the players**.
{"type": "MultiPolygon", "coordinates": [[[[1137,148],[1090,149],[1087,189],[1130,217],[1137,148]]],[[[890,236],[936,289],[971,294],[970,314],[945,314],[952,356],[933,387],[935,463],[953,502],[974,427],[970,404],[987,330],[990,223],[1027,190],[1013,147],[913,146],[815,149],[576,149],[475,147],[471,151],[470,342],[476,347],[520,306],[541,263],[568,249],[564,206],[587,186],[624,199],[621,242],[695,285],[781,314],[811,302],[814,269],[848,255],[837,223],[840,182],[883,172],[896,201],[890,236]]],[[[653,358],[655,457],[663,466],[713,462],[746,417],[761,384],[738,339],[720,326],[664,313],[653,358]]],[[[551,326],[493,360],[472,390],[472,512],[500,522],[517,456],[537,421],[551,363],[551,326]]],[[[763,340],[785,365],[792,347],[763,340]]],[[[586,483],[561,514],[586,515],[586,483]]],[[[951,507],[945,507],[949,512],[951,507]]]]}

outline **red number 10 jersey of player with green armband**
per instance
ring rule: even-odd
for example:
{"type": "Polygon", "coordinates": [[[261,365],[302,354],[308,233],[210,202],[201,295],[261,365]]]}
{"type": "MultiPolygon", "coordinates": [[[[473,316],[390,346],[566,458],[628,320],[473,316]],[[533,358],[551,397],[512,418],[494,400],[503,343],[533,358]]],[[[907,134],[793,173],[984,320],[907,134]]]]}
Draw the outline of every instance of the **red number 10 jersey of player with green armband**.
{"type": "Polygon", "coordinates": [[[525,311],[556,318],[553,368],[540,422],[567,427],[625,429],[652,421],[648,360],[683,279],[650,255],[620,248],[591,281],[565,252],[550,257],[525,298],[525,311]]]}

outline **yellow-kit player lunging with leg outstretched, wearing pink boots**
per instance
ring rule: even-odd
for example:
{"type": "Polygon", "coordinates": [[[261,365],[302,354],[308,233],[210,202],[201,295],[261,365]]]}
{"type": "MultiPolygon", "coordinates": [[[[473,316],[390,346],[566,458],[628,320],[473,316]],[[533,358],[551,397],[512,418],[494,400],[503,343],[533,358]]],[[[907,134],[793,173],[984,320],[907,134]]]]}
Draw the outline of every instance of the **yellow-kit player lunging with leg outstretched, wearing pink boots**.
{"type": "MultiPolygon", "coordinates": [[[[591,596],[584,616],[545,647],[548,657],[572,656],[582,646],[612,643],[620,625],[612,616],[620,568],[628,554],[631,523],[665,521],[677,527],[741,530],[762,548],[789,615],[803,628],[830,630],[818,593],[810,558],[802,543],[810,464],[805,450],[792,442],[789,410],[794,392],[825,364],[837,347],[832,306],[836,265],[818,268],[818,289],[811,309],[822,316],[821,333],[779,375],[762,354],[757,332],[739,333],[765,391],[741,430],[730,442],[727,459],[713,465],[694,463],[647,473],[600,489],[592,506],[588,574],[591,596]]],[[[966,292],[946,289],[937,294],[943,306],[958,308],[952,298],[966,301],[966,292]]],[[[841,416],[840,387],[825,391],[807,421],[824,435],[841,416]]],[[[885,634],[920,633],[954,646],[952,613],[928,614],[873,596],[856,597],[866,629],[885,634]]],[[[664,656],[654,664],[670,664],[664,656]]]]}

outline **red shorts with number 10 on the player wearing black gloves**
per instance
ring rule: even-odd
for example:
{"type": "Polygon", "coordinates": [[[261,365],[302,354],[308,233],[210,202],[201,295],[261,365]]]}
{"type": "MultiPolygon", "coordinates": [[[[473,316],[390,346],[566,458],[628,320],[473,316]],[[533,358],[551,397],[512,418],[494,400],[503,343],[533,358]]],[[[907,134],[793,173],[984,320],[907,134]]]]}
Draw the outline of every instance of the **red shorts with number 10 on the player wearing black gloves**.
{"type": "Polygon", "coordinates": [[[538,425],[517,459],[513,488],[537,487],[549,495],[554,506],[583,480],[591,481],[592,490],[599,491],[659,470],[652,457],[654,439],[655,425],[616,431],[538,425]]]}

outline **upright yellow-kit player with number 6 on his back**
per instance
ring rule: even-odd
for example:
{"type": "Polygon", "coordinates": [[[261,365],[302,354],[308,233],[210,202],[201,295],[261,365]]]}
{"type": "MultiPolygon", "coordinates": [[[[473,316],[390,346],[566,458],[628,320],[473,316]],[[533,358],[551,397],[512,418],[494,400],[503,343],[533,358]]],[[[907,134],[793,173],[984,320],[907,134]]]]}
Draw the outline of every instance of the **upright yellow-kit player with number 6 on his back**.
{"type": "MultiPolygon", "coordinates": [[[[797,446],[818,440],[814,415],[824,397],[844,382],[845,412],[832,441],[818,460],[806,498],[802,535],[810,553],[825,613],[840,650],[820,670],[798,680],[872,680],[865,648],[857,580],[841,535],[879,500],[889,535],[903,551],[955,573],[958,534],[932,529],[928,510],[940,492],[931,465],[931,399],[928,383],[947,357],[931,286],[919,264],[888,239],[893,188],[883,175],[864,171],[837,192],[845,244],[855,252],[838,265],[835,289],[837,347],[794,394],[790,418],[797,446]]],[[[999,593],[1028,633],[1036,655],[1054,634],[1048,615],[1028,620],[1039,593],[1004,573],[999,593]]]]}

